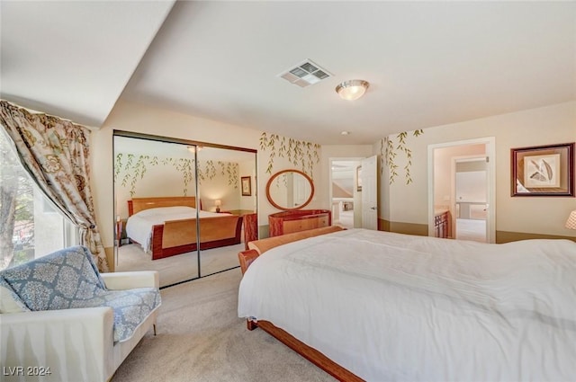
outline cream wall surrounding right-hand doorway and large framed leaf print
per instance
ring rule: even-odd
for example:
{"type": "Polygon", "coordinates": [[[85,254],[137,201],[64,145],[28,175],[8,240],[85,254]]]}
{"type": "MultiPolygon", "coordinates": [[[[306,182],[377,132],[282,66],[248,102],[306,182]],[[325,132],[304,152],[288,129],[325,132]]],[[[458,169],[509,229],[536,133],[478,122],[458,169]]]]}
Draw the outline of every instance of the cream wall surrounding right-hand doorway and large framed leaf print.
{"type": "MultiPolygon", "coordinates": [[[[393,136],[392,136],[393,137],[393,136]]],[[[428,222],[428,145],[473,138],[495,137],[496,140],[496,229],[547,235],[574,235],[564,227],[574,198],[510,196],[510,149],[574,142],[576,140],[576,102],[565,102],[543,108],[518,111],[480,120],[424,129],[418,138],[409,136],[412,150],[413,183],[401,179],[381,197],[389,205],[395,222],[427,224],[428,222]]],[[[374,149],[379,147],[374,145],[374,149]]],[[[399,167],[406,164],[398,161],[399,167]]],[[[383,184],[385,183],[383,179],[383,184]]]]}

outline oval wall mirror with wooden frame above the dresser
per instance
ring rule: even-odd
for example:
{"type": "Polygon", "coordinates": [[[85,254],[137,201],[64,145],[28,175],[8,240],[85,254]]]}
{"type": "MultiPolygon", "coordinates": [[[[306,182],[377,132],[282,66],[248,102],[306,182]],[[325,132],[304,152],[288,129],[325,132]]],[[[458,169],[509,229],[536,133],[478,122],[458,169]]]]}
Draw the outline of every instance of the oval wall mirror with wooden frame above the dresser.
{"type": "Polygon", "coordinates": [[[283,170],[266,183],[266,198],[276,209],[302,209],[314,196],[311,177],[298,170],[283,170]]]}

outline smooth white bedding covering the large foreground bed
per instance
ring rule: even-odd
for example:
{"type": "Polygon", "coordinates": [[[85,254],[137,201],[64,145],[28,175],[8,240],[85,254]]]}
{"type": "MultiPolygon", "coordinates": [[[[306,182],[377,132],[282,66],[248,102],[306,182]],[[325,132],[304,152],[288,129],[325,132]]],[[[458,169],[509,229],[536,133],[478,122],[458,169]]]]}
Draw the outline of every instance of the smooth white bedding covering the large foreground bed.
{"type": "Polygon", "coordinates": [[[238,315],[368,381],[573,381],[576,243],[320,235],[259,256],[238,315]]]}

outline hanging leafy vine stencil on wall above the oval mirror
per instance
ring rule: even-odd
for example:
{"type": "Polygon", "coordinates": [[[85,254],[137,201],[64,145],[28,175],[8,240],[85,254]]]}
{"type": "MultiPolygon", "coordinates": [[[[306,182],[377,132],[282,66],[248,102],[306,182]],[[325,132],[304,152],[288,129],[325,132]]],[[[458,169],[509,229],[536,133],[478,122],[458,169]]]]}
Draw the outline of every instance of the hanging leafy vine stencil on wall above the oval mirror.
{"type": "Polygon", "coordinates": [[[278,134],[260,136],[260,149],[269,151],[266,173],[272,174],[275,157],[285,157],[295,167],[300,167],[303,173],[312,177],[314,164],[320,163],[320,145],[303,140],[281,137],[278,134]]]}

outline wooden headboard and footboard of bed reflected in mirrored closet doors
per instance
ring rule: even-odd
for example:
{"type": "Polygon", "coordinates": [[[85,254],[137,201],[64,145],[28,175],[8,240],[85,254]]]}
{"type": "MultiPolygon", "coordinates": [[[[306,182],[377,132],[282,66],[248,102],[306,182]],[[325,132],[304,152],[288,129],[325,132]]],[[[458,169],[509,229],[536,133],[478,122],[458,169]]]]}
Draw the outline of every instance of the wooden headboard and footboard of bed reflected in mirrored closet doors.
{"type": "MultiPolygon", "coordinates": [[[[128,214],[132,216],[144,209],[175,206],[186,206],[195,209],[196,198],[133,198],[132,200],[128,200],[128,214]]],[[[202,209],[202,202],[200,203],[200,207],[202,209]]],[[[221,216],[218,217],[201,218],[200,220],[201,250],[240,243],[242,217],[221,214],[221,216]]],[[[197,249],[196,232],[195,218],[169,220],[165,221],[164,224],[152,227],[152,260],[195,251],[197,249]]]]}

